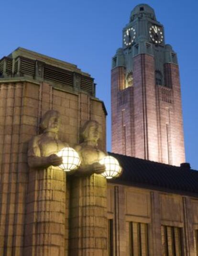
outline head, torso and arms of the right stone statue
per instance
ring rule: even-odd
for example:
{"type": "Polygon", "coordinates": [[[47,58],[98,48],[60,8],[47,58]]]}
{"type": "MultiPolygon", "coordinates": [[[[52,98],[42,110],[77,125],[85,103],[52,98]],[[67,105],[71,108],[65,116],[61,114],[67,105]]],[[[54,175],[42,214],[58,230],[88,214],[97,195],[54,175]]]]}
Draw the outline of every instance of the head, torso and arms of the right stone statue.
{"type": "Polygon", "coordinates": [[[106,154],[99,150],[99,123],[97,121],[87,121],[81,130],[82,143],[75,147],[81,159],[80,168],[76,175],[101,174],[105,171],[105,166],[99,163],[106,154]]]}

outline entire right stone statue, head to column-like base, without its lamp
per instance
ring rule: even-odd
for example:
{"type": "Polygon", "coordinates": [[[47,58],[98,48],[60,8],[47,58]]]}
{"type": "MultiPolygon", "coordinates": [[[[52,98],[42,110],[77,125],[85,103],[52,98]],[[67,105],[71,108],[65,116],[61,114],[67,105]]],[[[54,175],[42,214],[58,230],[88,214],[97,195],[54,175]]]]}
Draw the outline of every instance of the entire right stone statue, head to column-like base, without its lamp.
{"type": "Polygon", "coordinates": [[[87,121],[80,135],[82,143],[75,149],[81,158],[81,165],[71,182],[70,207],[75,211],[72,210],[70,214],[70,235],[73,238],[70,251],[71,255],[106,256],[107,179],[97,175],[105,171],[105,166],[99,160],[106,153],[98,148],[99,123],[87,121]]]}

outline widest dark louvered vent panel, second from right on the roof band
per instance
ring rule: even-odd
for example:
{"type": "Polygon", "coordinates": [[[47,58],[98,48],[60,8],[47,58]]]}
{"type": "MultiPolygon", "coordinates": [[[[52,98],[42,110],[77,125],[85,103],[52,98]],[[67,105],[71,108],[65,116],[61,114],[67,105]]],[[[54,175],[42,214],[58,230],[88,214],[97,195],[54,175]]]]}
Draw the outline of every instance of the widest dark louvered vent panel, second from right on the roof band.
{"type": "Polygon", "coordinates": [[[45,65],[44,67],[44,79],[73,87],[73,72],[50,65],[45,65]]]}

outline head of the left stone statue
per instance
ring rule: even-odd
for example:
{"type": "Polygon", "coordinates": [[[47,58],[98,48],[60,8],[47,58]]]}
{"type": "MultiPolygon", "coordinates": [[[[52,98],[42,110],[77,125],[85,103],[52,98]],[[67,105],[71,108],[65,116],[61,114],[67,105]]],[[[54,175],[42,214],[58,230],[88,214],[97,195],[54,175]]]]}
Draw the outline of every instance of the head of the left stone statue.
{"type": "Polygon", "coordinates": [[[60,113],[56,110],[48,110],[41,119],[40,129],[44,132],[58,132],[60,113]]]}

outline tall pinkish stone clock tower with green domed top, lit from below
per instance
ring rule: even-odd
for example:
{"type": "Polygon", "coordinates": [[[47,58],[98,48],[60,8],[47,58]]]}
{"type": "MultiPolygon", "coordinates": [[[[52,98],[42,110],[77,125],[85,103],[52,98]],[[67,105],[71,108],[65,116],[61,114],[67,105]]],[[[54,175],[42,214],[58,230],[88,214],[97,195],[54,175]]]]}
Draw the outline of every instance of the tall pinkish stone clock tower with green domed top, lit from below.
{"type": "Polygon", "coordinates": [[[137,5],[112,58],[112,151],[160,163],[185,162],[179,68],[147,4],[137,5]]]}

